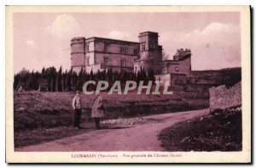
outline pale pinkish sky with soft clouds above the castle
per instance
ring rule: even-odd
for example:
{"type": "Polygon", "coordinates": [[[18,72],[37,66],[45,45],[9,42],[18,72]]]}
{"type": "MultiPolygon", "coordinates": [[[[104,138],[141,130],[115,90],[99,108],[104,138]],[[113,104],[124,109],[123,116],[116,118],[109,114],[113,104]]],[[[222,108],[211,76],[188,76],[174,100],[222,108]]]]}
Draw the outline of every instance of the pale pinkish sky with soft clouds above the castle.
{"type": "Polygon", "coordinates": [[[99,36],[138,42],[143,31],[159,33],[168,59],[177,48],[190,48],[192,70],[241,66],[240,14],[172,13],[15,13],[14,67],[41,71],[70,69],[70,40],[99,36]]]}

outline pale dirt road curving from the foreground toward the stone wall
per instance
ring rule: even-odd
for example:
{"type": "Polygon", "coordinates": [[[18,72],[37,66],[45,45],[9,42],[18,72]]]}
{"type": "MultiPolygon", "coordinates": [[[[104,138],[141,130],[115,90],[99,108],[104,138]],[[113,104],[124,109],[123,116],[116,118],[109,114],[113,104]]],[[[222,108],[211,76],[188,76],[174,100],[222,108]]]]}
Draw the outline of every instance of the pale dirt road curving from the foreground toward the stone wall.
{"type": "Polygon", "coordinates": [[[143,118],[154,120],[154,122],[149,121],[143,125],[91,131],[49,143],[16,148],[15,151],[164,151],[158,140],[158,134],[161,130],[177,122],[207,115],[208,113],[208,109],[201,109],[164,115],[150,115],[143,118]]]}

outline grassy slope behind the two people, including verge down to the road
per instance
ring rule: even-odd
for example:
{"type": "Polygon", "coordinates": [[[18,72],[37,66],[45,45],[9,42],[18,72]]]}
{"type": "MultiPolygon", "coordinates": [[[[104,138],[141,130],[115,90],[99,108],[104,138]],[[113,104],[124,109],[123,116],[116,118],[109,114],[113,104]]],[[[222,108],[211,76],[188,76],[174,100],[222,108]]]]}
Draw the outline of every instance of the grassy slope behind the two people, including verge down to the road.
{"type": "MultiPolygon", "coordinates": [[[[137,95],[131,92],[128,95],[103,93],[102,97],[105,108],[103,120],[106,121],[108,119],[129,121],[131,117],[208,107],[205,99],[187,102],[177,95],[137,95]]],[[[84,123],[82,126],[88,129],[79,132],[73,132],[72,98],[72,92],[16,92],[14,95],[15,147],[49,142],[94,129],[95,124],[90,117],[94,95],[81,94],[81,123],[84,123]]]]}

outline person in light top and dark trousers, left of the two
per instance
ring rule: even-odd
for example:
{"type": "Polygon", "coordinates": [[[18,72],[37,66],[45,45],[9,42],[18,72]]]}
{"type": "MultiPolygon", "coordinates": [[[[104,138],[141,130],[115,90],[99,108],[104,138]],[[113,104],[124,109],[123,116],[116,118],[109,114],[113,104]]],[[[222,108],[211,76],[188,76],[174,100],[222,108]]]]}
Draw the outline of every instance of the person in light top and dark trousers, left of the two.
{"type": "Polygon", "coordinates": [[[80,129],[80,118],[81,118],[81,100],[80,100],[80,92],[77,91],[76,95],[73,98],[73,109],[74,109],[74,114],[73,114],[73,127],[76,129],[80,129]]]}

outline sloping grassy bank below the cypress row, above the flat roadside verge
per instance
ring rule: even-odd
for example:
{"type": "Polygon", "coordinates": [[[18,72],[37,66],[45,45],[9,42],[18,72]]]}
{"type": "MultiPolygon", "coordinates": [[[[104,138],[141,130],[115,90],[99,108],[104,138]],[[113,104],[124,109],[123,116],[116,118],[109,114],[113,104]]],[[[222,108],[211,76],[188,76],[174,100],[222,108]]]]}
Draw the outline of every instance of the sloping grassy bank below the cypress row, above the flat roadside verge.
{"type": "MultiPolygon", "coordinates": [[[[105,119],[129,118],[203,109],[207,104],[193,104],[177,95],[127,95],[107,93],[104,98],[105,119]]],[[[81,94],[82,122],[91,120],[90,109],[94,95],[81,94]]],[[[17,92],[14,95],[15,132],[73,124],[72,92],[17,92]]],[[[198,101],[197,101],[198,102],[198,101]]]]}

